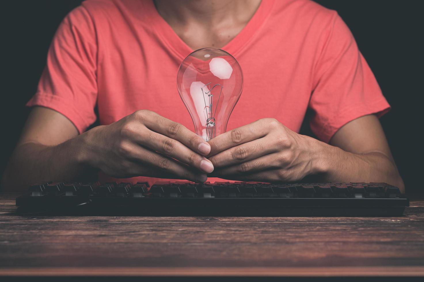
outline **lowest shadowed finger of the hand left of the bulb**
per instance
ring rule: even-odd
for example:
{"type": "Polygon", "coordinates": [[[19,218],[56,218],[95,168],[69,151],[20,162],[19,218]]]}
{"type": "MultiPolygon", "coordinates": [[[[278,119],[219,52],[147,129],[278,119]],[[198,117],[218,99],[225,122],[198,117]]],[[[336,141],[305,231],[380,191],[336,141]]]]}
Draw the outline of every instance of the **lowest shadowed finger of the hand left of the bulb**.
{"type": "Polygon", "coordinates": [[[123,154],[131,161],[144,165],[143,167],[156,170],[154,175],[161,178],[165,175],[172,175],[178,176],[179,179],[187,179],[195,182],[204,182],[207,179],[206,174],[196,172],[188,165],[184,165],[168,156],[142,148],[135,143],[126,145],[123,154]]]}

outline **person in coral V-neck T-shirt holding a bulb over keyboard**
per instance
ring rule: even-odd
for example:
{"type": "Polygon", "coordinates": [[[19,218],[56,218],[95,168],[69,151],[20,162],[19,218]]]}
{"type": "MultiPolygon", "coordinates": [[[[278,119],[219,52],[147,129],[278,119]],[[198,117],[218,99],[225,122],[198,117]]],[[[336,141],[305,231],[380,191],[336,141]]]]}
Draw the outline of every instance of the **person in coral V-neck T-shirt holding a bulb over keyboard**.
{"type": "Polygon", "coordinates": [[[60,25],[28,106],[4,187],[98,170],[103,181],[308,177],[404,191],[378,121],[390,106],[338,14],[308,0],[88,0],[60,25]],[[231,130],[209,142],[175,87],[202,47],[231,53],[245,77],[231,130]],[[297,133],[308,108],[320,140],[297,133]]]}

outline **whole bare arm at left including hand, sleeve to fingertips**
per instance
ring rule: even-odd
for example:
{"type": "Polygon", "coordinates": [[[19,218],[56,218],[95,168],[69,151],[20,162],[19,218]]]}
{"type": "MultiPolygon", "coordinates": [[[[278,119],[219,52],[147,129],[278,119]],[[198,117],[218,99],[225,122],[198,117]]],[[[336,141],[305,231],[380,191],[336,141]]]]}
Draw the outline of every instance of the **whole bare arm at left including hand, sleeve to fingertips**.
{"type": "Polygon", "coordinates": [[[140,110],[78,135],[59,112],[35,107],[3,175],[4,189],[41,181],[81,179],[97,169],[126,178],[153,176],[206,181],[210,146],[179,123],[140,110]]]}

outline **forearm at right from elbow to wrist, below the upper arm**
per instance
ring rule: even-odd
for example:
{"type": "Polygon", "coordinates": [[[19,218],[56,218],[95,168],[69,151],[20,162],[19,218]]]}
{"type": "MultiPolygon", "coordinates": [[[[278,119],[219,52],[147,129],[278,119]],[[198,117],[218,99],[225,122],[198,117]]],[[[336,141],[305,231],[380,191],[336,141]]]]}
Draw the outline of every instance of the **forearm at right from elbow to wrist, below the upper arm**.
{"type": "Polygon", "coordinates": [[[404,192],[404,183],[393,161],[384,153],[353,154],[310,138],[315,154],[313,173],[322,181],[386,182],[404,192]]]}

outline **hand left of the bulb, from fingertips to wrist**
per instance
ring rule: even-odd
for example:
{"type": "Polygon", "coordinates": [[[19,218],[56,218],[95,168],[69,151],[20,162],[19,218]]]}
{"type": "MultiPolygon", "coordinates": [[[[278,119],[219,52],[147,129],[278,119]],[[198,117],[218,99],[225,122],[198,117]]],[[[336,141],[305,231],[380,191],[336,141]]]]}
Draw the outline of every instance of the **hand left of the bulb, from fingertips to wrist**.
{"type": "Polygon", "coordinates": [[[86,132],[86,162],[117,178],[149,176],[206,181],[210,146],[179,123],[140,110],[86,132]]]}

